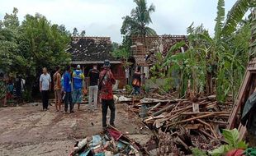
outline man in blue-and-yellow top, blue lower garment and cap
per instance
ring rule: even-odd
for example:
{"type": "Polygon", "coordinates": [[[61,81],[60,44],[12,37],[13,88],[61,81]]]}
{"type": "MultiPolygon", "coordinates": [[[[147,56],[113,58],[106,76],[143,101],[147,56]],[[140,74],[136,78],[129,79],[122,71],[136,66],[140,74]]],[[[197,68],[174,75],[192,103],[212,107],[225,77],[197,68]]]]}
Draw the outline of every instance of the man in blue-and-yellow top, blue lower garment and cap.
{"type": "Polygon", "coordinates": [[[83,99],[83,80],[84,75],[81,71],[80,65],[77,66],[77,69],[73,71],[73,103],[78,103],[78,110],[80,109],[80,104],[83,99]]]}

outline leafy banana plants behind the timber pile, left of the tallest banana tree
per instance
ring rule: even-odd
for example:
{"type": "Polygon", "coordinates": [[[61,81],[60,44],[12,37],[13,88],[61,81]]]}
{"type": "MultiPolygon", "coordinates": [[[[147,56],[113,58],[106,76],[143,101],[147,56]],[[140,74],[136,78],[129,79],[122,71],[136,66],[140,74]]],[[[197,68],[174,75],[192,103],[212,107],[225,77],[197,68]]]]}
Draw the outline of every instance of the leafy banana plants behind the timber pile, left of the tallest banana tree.
{"type": "Polygon", "coordinates": [[[173,45],[167,57],[164,58],[162,66],[159,67],[163,69],[170,66],[168,76],[172,76],[173,71],[179,73],[178,91],[180,97],[183,97],[187,92],[188,80],[191,80],[192,90],[196,94],[204,91],[206,84],[206,54],[208,49],[204,43],[206,42],[205,39],[210,38],[210,36],[202,25],[196,28],[190,25],[187,32],[189,33],[188,43],[181,42],[173,45]],[[188,48],[185,53],[175,53],[182,47],[188,48]]]}

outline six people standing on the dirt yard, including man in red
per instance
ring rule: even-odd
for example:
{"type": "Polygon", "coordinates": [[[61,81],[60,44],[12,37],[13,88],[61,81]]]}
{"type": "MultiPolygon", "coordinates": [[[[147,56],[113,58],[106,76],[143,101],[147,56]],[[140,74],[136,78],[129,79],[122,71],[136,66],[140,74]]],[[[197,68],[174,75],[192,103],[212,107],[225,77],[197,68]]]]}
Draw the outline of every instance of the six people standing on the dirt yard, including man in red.
{"type": "MultiPolygon", "coordinates": [[[[113,100],[112,85],[116,84],[116,79],[111,72],[111,64],[108,60],[104,61],[102,71],[97,70],[97,64],[88,72],[89,78],[89,97],[88,97],[88,110],[97,110],[97,95],[100,92],[102,101],[102,126],[107,127],[107,109],[111,110],[110,125],[115,126],[115,103],[113,100]],[[93,104],[92,104],[93,98],[93,104]]],[[[61,76],[60,67],[56,67],[53,76],[54,90],[55,90],[55,107],[56,112],[61,110],[61,103],[64,102],[64,111],[73,113],[73,106],[75,103],[80,104],[83,101],[83,93],[86,92],[87,87],[84,85],[85,76],[81,70],[80,65],[77,66],[75,71],[71,71],[71,67],[66,67],[66,70],[61,76]],[[73,87],[72,87],[73,86],[73,87]]],[[[51,89],[51,77],[47,69],[43,68],[43,73],[40,76],[40,92],[42,95],[43,110],[47,111],[49,103],[49,92],[51,89]]]]}

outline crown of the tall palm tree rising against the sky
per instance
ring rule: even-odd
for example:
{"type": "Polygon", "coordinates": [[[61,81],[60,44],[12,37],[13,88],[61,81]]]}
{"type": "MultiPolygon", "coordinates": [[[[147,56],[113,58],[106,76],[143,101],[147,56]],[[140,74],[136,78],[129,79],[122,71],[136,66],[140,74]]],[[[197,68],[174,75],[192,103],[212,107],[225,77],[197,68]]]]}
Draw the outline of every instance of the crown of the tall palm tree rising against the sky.
{"type": "Polygon", "coordinates": [[[136,7],[131,10],[130,16],[123,17],[121,34],[125,35],[154,35],[156,32],[149,28],[152,23],[150,14],[154,12],[154,5],[147,6],[146,0],[134,0],[136,7]]]}

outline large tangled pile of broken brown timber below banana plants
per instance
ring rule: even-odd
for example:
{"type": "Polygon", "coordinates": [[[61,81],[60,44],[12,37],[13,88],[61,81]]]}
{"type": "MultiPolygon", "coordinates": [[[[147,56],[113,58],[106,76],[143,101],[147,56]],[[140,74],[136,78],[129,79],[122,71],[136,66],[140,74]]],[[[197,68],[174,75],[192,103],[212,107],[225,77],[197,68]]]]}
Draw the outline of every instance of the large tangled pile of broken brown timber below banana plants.
{"type": "Polygon", "coordinates": [[[188,99],[142,99],[130,103],[150,129],[157,131],[158,154],[190,154],[192,147],[220,145],[220,130],[227,126],[233,102],[217,103],[216,96],[188,99]]]}

